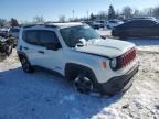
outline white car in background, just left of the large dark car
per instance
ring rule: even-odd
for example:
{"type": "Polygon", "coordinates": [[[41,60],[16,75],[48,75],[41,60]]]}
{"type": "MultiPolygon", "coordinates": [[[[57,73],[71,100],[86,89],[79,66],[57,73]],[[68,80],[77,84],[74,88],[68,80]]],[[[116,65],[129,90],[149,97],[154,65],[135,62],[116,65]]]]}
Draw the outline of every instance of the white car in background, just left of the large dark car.
{"type": "Polygon", "coordinates": [[[117,26],[119,24],[123,24],[123,23],[124,22],[121,20],[114,19],[114,20],[108,20],[106,22],[106,26],[107,26],[107,29],[113,29],[113,28],[115,28],[115,26],[117,26]]]}

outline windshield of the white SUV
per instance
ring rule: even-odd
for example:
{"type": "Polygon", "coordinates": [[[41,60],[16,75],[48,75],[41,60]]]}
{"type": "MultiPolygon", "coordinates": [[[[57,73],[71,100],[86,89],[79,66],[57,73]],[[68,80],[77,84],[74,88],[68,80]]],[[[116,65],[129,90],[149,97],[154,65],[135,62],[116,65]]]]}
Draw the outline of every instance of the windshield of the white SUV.
{"type": "Polygon", "coordinates": [[[88,25],[66,28],[60,32],[70,47],[75,47],[77,43],[81,43],[82,39],[85,41],[100,39],[100,35],[88,25]]]}

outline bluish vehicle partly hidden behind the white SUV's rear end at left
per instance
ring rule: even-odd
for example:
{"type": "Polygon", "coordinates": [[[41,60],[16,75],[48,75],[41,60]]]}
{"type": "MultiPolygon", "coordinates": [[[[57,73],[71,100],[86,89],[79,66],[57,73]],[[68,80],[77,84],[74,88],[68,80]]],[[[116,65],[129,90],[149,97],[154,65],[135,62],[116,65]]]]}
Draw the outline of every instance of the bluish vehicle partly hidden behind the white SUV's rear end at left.
{"type": "Polygon", "coordinates": [[[9,31],[9,35],[14,37],[14,47],[17,46],[17,42],[18,42],[18,39],[19,39],[19,31],[20,31],[19,28],[11,28],[10,31],[9,31]]]}

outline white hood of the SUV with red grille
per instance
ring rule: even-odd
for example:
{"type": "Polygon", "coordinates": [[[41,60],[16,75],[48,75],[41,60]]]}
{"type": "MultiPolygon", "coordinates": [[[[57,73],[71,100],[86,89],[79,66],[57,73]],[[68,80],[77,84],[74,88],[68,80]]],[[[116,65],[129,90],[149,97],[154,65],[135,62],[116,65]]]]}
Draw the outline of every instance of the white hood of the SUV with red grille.
{"type": "Polygon", "coordinates": [[[135,44],[132,43],[113,39],[99,39],[94,41],[94,43],[88,43],[87,45],[84,45],[82,47],[75,47],[75,50],[77,52],[89,53],[113,58],[135,47],[135,44]]]}

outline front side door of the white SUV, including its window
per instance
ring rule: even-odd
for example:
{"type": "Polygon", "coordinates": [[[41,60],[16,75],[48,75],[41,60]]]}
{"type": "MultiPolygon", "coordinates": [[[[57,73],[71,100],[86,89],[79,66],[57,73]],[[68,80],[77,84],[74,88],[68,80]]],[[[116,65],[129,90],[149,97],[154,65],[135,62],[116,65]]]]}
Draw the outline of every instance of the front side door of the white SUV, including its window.
{"type": "Polygon", "coordinates": [[[41,44],[41,51],[39,53],[42,56],[41,66],[56,71],[63,74],[64,69],[64,55],[62,45],[54,31],[41,30],[39,31],[39,40],[41,44]],[[52,45],[59,44],[59,48],[53,50],[52,45]]]}

